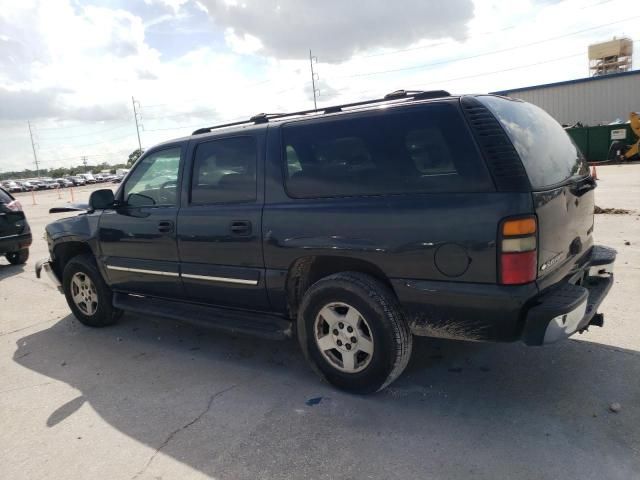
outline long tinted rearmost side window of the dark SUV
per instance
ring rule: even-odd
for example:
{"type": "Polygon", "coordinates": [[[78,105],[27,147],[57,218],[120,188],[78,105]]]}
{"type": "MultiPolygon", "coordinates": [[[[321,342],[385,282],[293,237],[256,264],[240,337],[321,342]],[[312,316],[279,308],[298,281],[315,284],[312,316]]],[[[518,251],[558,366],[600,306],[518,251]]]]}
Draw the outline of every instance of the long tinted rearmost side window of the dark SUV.
{"type": "Polygon", "coordinates": [[[283,139],[287,192],[297,198],[493,190],[451,104],[296,122],[283,139]]]}

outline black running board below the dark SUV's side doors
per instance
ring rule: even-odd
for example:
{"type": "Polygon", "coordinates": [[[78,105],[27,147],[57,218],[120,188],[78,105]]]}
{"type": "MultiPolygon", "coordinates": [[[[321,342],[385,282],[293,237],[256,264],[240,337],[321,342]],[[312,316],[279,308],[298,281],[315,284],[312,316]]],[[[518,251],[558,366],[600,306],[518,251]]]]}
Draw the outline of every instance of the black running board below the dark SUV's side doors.
{"type": "Polygon", "coordinates": [[[292,336],[292,323],[268,313],[230,310],[154,297],[113,294],[113,306],[126,312],[169,318],[196,327],[284,340],[292,336]]]}

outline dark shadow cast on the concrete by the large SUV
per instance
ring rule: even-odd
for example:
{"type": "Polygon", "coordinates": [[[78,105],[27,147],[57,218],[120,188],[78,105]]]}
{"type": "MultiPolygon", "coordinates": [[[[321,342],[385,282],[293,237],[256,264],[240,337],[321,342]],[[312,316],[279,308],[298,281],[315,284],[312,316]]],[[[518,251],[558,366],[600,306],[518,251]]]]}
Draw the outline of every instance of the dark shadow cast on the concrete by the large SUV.
{"type": "Polygon", "coordinates": [[[47,428],[87,402],[155,450],[132,466],[150,477],[162,475],[159,452],[217,479],[640,472],[640,354],[586,341],[417,339],[405,375],[367,397],[318,380],[294,342],[134,315],[105,329],[67,316],[19,339],[13,358],[81,392],[47,428]]]}

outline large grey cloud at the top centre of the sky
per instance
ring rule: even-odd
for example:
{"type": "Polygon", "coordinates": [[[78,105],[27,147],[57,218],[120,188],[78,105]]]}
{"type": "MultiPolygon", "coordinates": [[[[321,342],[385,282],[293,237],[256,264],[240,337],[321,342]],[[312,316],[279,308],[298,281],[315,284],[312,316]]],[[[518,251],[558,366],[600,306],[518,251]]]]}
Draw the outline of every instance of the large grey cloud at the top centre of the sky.
{"type": "Polygon", "coordinates": [[[223,28],[260,39],[277,58],[304,58],[322,51],[332,60],[359,51],[402,47],[423,38],[464,39],[473,17],[471,0],[201,0],[223,28]]]}

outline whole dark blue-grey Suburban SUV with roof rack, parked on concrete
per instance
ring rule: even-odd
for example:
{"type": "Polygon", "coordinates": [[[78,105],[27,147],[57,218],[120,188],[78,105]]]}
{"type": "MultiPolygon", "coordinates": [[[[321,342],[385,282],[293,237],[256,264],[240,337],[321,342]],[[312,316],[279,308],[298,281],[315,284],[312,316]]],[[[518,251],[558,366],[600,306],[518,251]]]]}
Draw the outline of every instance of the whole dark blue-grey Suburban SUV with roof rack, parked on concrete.
{"type": "Polygon", "coordinates": [[[46,228],[84,324],[122,311],[286,338],[353,392],[403,371],[412,335],[542,345],[602,325],[615,251],[596,184],[543,110],[387,97],[197,130],[46,228]]]}

